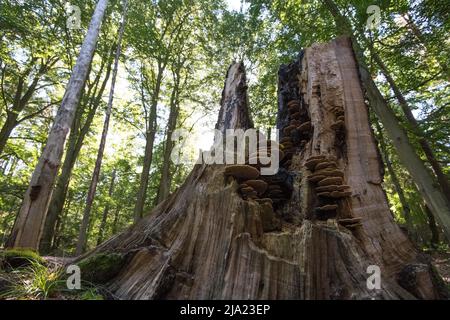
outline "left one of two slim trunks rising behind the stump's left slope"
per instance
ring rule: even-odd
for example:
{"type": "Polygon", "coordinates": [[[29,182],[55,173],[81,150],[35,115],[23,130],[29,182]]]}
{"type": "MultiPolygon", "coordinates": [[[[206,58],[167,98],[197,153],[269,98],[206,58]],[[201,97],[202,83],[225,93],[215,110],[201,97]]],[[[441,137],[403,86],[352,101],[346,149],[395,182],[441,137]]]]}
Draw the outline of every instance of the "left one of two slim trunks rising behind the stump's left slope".
{"type": "MultiPolygon", "coordinates": [[[[153,161],[153,144],[155,142],[155,135],[157,129],[157,106],[159,100],[159,91],[161,88],[162,76],[164,73],[164,67],[158,64],[158,75],[156,77],[155,89],[152,96],[152,104],[150,106],[150,115],[148,118],[145,150],[144,150],[144,163],[142,166],[139,190],[136,197],[136,205],[134,207],[134,221],[139,221],[144,212],[145,200],[147,197],[148,178],[150,175],[150,167],[153,161]]],[[[143,99],[144,97],[142,97],[143,99]]],[[[142,101],[144,106],[144,101],[142,101]]]]}

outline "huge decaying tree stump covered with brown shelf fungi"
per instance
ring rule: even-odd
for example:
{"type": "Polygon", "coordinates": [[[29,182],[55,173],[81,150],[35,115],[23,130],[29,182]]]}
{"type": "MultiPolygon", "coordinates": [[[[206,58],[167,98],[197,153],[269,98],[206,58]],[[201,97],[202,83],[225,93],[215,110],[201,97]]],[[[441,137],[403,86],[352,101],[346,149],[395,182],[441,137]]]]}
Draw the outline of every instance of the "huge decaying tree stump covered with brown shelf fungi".
{"type": "MultiPolygon", "coordinates": [[[[233,64],[217,128],[251,126],[244,68],[233,64]]],[[[83,259],[120,254],[103,282],[126,299],[442,297],[389,211],[347,39],[281,67],[278,127],[278,174],[197,165],[168,200],[83,259]],[[380,289],[367,286],[369,265],[381,269],[380,289]]]]}

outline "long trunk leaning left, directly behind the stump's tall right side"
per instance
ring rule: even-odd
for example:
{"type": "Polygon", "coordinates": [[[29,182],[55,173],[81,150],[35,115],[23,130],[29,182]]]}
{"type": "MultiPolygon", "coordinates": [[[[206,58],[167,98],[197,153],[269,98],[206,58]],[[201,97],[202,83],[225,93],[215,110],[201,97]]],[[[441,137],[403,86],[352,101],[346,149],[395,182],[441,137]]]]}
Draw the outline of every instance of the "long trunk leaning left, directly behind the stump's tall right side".
{"type": "Polygon", "coordinates": [[[383,127],[397,150],[400,161],[414,179],[420,194],[425,199],[433,215],[440,222],[446,238],[450,241],[450,207],[447,202],[447,197],[435,185],[432,175],[417,155],[409,141],[408,135],[398,123],[395,113],[389,107],[369,74],[369,69],[364,61],[363,50],[353,35],[350,23],[341,15],[339,8],[332,0],[324,0],[324,2],[335,18],[337,30],[341,30],[343,34],[349,35],[352,40],[353,49],[359,65],[361,81],[365,88],[367,98],[370,101],[370,107],[383,123],[383,127]]]}

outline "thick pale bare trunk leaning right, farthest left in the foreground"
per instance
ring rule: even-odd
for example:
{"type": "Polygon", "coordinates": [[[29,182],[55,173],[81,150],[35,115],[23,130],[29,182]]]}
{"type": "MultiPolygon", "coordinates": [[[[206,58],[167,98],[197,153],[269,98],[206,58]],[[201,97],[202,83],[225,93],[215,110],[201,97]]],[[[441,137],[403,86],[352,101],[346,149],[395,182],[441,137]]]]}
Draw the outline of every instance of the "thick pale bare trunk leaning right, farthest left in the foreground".
{"type": "Polygon", "coordinates": [[[18,219],[8,240],[8,247],[23,247],[36,250],[39,248],[39,240],[44,227],[53,185],[60,166],[64,143],[86,81],[107,4],[108,0],[99,0],[97,3],[61,107],[48,135],[47,144],[24,195],[18,219]]]}

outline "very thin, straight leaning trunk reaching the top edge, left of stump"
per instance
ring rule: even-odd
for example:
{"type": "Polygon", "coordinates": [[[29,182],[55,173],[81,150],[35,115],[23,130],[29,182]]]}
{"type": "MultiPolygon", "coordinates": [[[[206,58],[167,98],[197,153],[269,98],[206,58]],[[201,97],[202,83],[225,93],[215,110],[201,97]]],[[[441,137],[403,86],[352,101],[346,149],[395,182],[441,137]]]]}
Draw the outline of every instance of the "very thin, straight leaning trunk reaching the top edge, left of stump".
{"type": "Polygon", "coordinates": [[[120,58],[120,52],[121,52],[122,37],[123,37],[123,32],[125,30],[127,5],[128,5],[128,1],[124,0],[123,1],[122,22],[120,24],[119,37],[117,40],[117,50],[116,50],[116,56],[114,58],[114,68],[113,68],[112,79],[111,79],[111,89],[109,91],[108,106],[106,109],[105,121],[103,123],[103,131],[102,131],[102,136],[100,139],[100,146],[98,148],[97,160],[95,161],[94,172],[92,174],[91,184],[89,186],[89,191],[88,191],[88,194],[86,197],[86,206],[85,206],[85,209],[83,212],[83,220],[81,221],[80,234],[78,236],[77,248],[76,248],[76,252],[75,252],[75,254],[77,254],[77,255],[83,253],[83,251],[85,250],[85,247],[86,247],[86,243],[87,243],[87,235],[88,235],[87,231],[88,231],[90,217],[91,217],[91,209],[92,209],[92,204],[94,202],[98,179],[100,177],[100,169],[102,166],[103,153],[105,151],[105,146],[106,146],[106,137],[108,135],[108,129],[109,129],[109,120],[110,120],[111,112],[112,112],[112,105],[113,105],[113,100],[114,100],[114,87],[116,84],[117,69],[119,67],[119,58],[120,58]]]}

